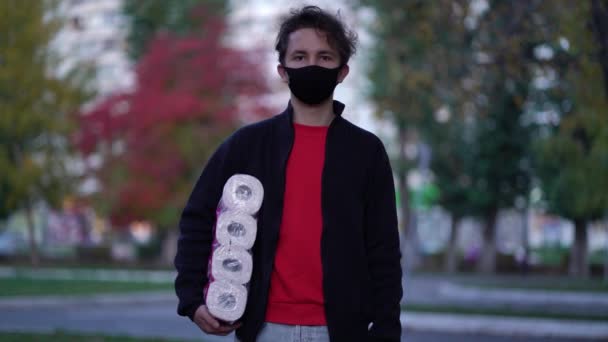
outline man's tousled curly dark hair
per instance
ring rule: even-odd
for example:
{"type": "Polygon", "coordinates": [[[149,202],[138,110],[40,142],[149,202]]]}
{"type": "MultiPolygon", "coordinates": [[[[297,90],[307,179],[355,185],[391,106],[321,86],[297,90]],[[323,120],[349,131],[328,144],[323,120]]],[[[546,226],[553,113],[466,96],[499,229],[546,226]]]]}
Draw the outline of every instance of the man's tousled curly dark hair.
{"type": "Polygon", "coordinates": [[[349,30],[337,15],[332,15],[317,6],[305,6],[292,10],[283,19],[275,50],[279,53],[279,63],[284,64],[289,35],[302,28],[313,28],[327,34],[327,42],[340,55],[340,65],[345,65],[357,50],[357,34],[349,30]]]}

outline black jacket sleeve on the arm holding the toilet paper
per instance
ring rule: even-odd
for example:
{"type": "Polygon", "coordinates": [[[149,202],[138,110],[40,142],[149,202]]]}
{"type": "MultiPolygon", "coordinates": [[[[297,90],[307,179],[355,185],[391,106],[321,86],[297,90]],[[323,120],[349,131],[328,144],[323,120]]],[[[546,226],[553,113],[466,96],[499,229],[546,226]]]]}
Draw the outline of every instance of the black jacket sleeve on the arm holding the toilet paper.
{"type": "Polygon", "coordinates": [[[177,270],[175,293],[177,313],[193,319],[204,304],[203,290],[208,282],[207,268],[213,243],[215,211],[226,176],[229,141],[211,156],[198,178],[179,221],[179,238],[174,265],[177,270]]]}

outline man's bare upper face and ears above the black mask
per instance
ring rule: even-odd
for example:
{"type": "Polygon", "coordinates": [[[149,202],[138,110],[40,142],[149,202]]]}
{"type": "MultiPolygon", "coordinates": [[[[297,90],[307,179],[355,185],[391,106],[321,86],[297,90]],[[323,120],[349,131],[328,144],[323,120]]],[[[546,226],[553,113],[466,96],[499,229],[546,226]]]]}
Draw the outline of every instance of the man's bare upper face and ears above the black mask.
{"type": "MultiPolygon", "coordinates": [[[[329,45],[325,33],[313,28],[302,28],[289,35],[284,63],[285,67],[294,69],[309,65],[334,69],[340,66],[340,54],[329,45]]],[[[278,71],[283,81],[288,82],[282,65],[278,66],[278,71]]],[[[338,75],[338,83],[342,82],[347,74],[348,65],[344,65],[338,75]]]]}

